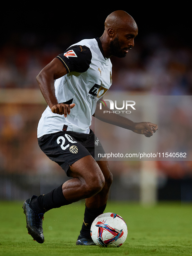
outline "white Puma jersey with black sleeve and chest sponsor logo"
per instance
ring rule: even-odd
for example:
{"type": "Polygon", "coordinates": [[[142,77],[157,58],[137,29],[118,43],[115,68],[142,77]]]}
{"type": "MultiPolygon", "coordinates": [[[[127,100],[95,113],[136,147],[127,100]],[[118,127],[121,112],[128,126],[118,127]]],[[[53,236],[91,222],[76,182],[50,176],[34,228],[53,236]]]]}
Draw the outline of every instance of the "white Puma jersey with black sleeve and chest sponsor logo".
{"type": "Polygon", "coordinates": [[[59,131],[88,134],[96,103],[112,83],[111,61],[105,58],[99,38],[71,45],[56,58],[68,72],[55,80],[56,98],[58,103],[75,103],[75,107],[65,118],[47,106],[38,124],[37,137],[59,131]]]}

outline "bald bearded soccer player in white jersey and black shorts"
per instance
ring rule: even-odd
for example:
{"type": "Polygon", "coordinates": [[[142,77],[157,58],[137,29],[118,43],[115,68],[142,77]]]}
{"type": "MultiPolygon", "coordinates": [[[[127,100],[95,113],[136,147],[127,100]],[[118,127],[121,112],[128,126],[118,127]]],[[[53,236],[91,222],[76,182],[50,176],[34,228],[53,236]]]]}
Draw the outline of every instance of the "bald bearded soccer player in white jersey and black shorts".
{"type": "Polygon", "coordinates": [[[107,160],[96,157],[95,150],[99,153],[104,150],[89,128],[92,116],[146,137],[158,129],[150,122],[135,123],[116,114],[102,116],[96,110],[97,101],[112,83],[110,57],[125,57],[134,46],[137,33],[134,19],[125,11],[115,11],[105,20],[100,38],[71,45],[37,76],[48,104],[38,124],[38,144],[72,177],[51,192],[32,196],[23,203],[28,232],[38,243],[44,242],[42,219],[46,211],[85,199],[83,224],[76,244],[94,245],[90,227],[106,208],[112,174],[107,160]]]}

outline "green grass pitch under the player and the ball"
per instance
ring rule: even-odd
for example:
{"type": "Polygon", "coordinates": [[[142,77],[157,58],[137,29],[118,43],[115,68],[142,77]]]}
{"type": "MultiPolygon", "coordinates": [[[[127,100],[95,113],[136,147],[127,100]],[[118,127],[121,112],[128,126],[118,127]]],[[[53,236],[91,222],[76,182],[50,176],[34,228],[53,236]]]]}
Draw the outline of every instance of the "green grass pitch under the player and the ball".
{"type": "Polygon", "coordinates": [[[0,202],[0,255],[192,255],[191,204],[142,207],[109,202],[105,212],[118,213],[127,223],[128,236],[120,248],[75,245],[83,222],[83,201],[45,213],[43,244],[27,234],[22,202],[0,202]]]}

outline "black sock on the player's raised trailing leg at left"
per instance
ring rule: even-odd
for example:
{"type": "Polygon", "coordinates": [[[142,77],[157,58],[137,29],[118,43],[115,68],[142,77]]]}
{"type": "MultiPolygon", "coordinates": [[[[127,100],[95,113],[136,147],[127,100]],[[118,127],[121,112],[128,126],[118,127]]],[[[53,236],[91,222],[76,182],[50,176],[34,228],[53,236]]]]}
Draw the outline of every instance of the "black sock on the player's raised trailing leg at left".
{"type": "Polygon", "coordinates": [[[32,198],[30,202],[32,210],[39,213],[45,213],[53,208],[59,208],[63,205],[70,204],[63,195],[62,185],[45,195],[40,195],[38,197],[33,196],[34,198],[32,198]]]}

